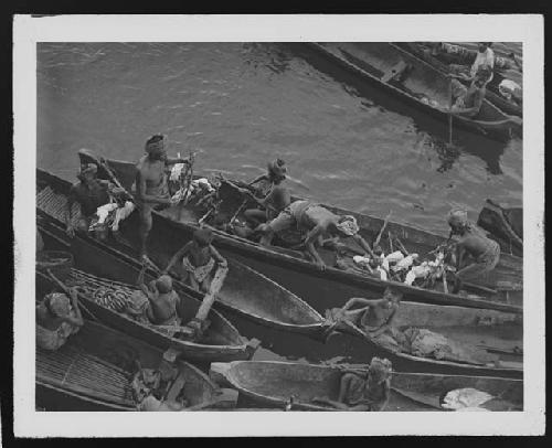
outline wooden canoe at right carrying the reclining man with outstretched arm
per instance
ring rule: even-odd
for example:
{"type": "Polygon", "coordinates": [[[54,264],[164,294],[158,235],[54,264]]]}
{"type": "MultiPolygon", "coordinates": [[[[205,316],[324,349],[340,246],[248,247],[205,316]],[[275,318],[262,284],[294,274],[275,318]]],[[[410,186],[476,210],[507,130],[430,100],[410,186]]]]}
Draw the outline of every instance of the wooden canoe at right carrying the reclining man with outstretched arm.
{"type": "Polygon", "coordinates": [[[339,323],[337,329],[364,340],[367,363],[369,356],[375,355],[389,359],[401,372],[523,377],[523,322],[520,314],[402,301],[393,324],[401,331],[408,328],[429,330],[453,343],[467,344],[478,354],[461,360],[415,355],[382,345],[350,322],[339,323]]]}

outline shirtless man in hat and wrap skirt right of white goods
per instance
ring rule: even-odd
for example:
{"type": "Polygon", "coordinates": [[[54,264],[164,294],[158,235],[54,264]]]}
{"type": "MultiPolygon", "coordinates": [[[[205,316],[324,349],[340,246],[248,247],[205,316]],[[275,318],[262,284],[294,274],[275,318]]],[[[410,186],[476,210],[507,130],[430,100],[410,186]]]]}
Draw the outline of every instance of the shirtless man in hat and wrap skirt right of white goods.
{"type": "Polygon", "coordinates": [[[448,215],[450,236],[459,236],[456,244],[456,285],[453,294],[460,290],[463,281],[474,280],[487,275],[497,266],[500,259],[499,244],[487,237],[485,232],[468,221],[463,210],[453,211],[448,215]],[[466,264],[466,255],[473,263],[466,264]]]}

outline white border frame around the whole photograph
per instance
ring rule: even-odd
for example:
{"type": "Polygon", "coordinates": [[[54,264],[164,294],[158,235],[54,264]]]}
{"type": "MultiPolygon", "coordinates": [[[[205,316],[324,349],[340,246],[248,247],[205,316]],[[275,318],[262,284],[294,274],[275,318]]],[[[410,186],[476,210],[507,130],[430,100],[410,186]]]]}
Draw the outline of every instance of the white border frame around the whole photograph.
{"type": "Polygon", "coordinates": [[[15,15],[15,436],[541,435],[544,433],[544,44],[537,14],[15,15]],[[522,413],[44,413],[34,410],[36,42],[509,41],[523,43],[522,413]],[[397,418],[399,417],[399,418],[397,418]]]}

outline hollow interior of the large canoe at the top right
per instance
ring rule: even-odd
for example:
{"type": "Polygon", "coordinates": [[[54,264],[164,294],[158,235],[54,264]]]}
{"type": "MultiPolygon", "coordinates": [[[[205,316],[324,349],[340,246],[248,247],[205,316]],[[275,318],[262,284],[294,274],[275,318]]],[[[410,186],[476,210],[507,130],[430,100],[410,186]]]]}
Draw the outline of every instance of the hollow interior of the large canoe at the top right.
{"type": "MultiPolygon", "coordinates": [[[[391,73],[393,68],[400,64],[406,64],[407,68],[404,75],[399,76],[397,79],[393,79],[389,84],[410,97],[432,99],[440,108],[449,106],[449,81],[446,75],[392,43],[340,42],[323,43],[322,45],[381,82],[384,82],[382,78],[391,73]]],[[[484,102],[481,110],[475,117],[478,121],[500,121],[506,118],[507,116],[503,113],[488,102],[484,102]]]]}

